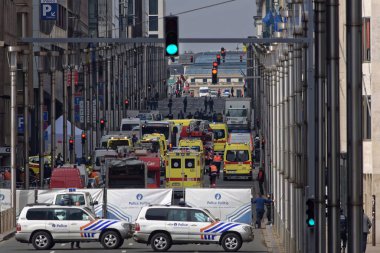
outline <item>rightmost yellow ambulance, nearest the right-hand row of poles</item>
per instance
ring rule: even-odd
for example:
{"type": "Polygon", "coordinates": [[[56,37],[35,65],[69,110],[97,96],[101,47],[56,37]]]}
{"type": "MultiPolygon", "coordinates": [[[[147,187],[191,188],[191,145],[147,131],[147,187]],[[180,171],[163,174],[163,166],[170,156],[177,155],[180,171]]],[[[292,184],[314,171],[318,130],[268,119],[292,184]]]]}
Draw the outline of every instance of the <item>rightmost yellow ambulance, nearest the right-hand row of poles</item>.
{"type": "Polygon", "coordinates": [[[223,160],[223,180],[252,180],[252,155],[248,143],[227,143],[223,160]]]}

